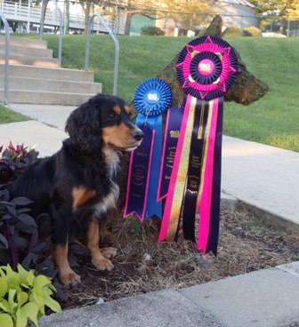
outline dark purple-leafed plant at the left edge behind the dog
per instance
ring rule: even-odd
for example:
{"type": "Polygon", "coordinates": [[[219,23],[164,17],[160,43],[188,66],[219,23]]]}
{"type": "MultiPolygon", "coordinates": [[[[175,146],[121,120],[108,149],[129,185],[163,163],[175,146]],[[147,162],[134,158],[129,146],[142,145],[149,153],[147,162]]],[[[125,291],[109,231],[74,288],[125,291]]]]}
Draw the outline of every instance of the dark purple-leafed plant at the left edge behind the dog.
{"type": "MultiPolygon", "coordinates": [[[[23,144],[14,147],[12,142],[0,147],[0,266],[18,263],[28,269],[34,267],[40,273],[53,277],[53,262],[44,255],[46,244],[38,235],[36,220],[30,216],[30,204],[26,197],[10,199],[7,186],[32,164],[36,164],[38,152],[23,144]]],[[[43,223],[43,221],[41,222],[43,223]]]]}

